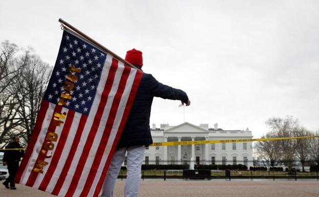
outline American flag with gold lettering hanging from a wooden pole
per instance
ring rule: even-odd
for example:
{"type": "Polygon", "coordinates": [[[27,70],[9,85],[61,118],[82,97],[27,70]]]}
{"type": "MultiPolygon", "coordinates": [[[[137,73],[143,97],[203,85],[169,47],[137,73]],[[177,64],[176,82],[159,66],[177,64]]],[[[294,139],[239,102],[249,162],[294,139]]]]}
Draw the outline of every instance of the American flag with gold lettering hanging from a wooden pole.
{"type": "Polygon", "coordinates": [[[15,182],[59,196],[97,196],[142,75],[64,30],[15,182]]]}

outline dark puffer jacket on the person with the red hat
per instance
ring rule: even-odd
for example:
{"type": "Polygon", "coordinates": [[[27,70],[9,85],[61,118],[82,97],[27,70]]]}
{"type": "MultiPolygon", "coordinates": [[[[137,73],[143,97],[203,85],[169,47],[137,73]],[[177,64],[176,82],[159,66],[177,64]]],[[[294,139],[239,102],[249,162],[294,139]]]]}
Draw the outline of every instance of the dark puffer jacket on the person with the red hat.
{"type": "Polygon", "coordinates": [[[118,148],[153,143],[150,132],[151,106],[154,97],[180,100],[187,103],[184,91],[159,83],[151,74],[143,73],[138,92],[127,118],[118,148]]]}

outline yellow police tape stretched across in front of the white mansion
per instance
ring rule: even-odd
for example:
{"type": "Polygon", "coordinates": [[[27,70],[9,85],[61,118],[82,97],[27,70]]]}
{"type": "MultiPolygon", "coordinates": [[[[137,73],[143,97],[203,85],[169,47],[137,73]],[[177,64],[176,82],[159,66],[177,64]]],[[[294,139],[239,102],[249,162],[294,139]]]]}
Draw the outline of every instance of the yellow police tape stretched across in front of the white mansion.
{"type": "Polygon", "coordinates": [[[203,141],[180,141],[180,142],[154,142],[149,146],[177,146],[177,145],[189,145],[189,144],[256,142],[256,141],[292,140],[292,139],[304,139],[304,138],[319,138],[319,136],[302,136],[302,137],[288,137],[288,138],[260,138],[260,139],[203,140],[203,141]]]}

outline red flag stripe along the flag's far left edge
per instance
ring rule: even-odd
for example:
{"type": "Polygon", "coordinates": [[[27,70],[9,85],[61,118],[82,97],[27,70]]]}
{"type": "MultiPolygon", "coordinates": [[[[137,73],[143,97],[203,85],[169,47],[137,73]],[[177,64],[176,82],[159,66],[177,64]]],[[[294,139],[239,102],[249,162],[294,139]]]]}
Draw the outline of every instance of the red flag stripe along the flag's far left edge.
{"type": "Polygon", "coordinates": [[[39,134],[41,132],[42,123],[45,120],[45,114],[46,114],[45,112],[47,112],[48,108],[49,108],[49,102],[43,100],[41,102],[40,110],[39,110],[37,121],[35,123],[34,129],[33,129],[33,132],[32,132],[31,139],[30,139],[30,141],[28,143],[26,154],[24,155],[24,158],[21,161],[21,164],[19,166],[19,170],[18,170],[18,172],[16,174],[16,177],[15,177],[15,182],[16,183],[20,182],[22,173],[25,171],[25,169],[27,167],[27,164],[28,164],[28,161],[29,161],[28,159],[32,155],[32,152],[33,152],[33,149],[34,149],[34,145],[37,142],[37,139],[38,139],[39,134]]]}

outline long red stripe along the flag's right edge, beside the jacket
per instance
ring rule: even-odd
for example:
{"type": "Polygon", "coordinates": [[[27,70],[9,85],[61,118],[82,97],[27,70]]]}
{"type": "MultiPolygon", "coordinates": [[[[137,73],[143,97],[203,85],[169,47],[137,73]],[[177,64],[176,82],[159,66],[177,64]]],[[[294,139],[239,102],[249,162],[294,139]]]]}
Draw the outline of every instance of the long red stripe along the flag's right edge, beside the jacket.
{"type": "MultiPolygon", "coordinates": [[[[132,70],[133,72],[135,72],[135,75],[134,75],[134,78],[133,78],[133,83],[130,84],[131,87],[130,87],[130,93],[128,95],[128,98],[127,98],[127,101],[126,101],[126,106],[125,106],[125,110],[124,110],[124,113],[123,113],[123,118],[121,120],[121,123],[119,125],[119,128],[118,128],[118,133],[116,135],[116,137],[114,138],[113,140],[113,143],[111,144],[111,150],[110,150],[110,154],[106,155],[107,156],[107,160],[105,163],[102,163],[101,164],[101,168],[102,168],[102,173],[101,173],[101,176],[100,177],[96,177],[93,184],[92,185],[96,185],[96,187],[91,187],[90,188],[90,192],[88,193],[87,196],[93,196],[93,197],[96,197],[98,196],[101,188],[102,188],[102,184],[103,184],[103,181],[104,181],[104,178],[105,178],[105,175],[106,175],[106,171],[108,169],[108,166],[109,166],[109,163],[112,159],[112,155],[116,149],[116,145],[120,139],[120,136],[121,136],[121,133],[122,133],[122,130],[124,128],[124,125],[125,125],[125,122],[128,118],[128,114],[129,114],[129,111],[130,111],[130,108],[133,104],[133,101],[134,101],[134,98],[135,98],[135,94],[138,90],[138,87],[139,87],[139,83],[142,79],[142,75],[143,73],[142,72],[138,72],[137,70],[132,70]]],[[[128,90],[129,91],[129,90],[128,90]]],[[[102,161],[105,161],[105,159],[103,158],[102,161]]]]}

